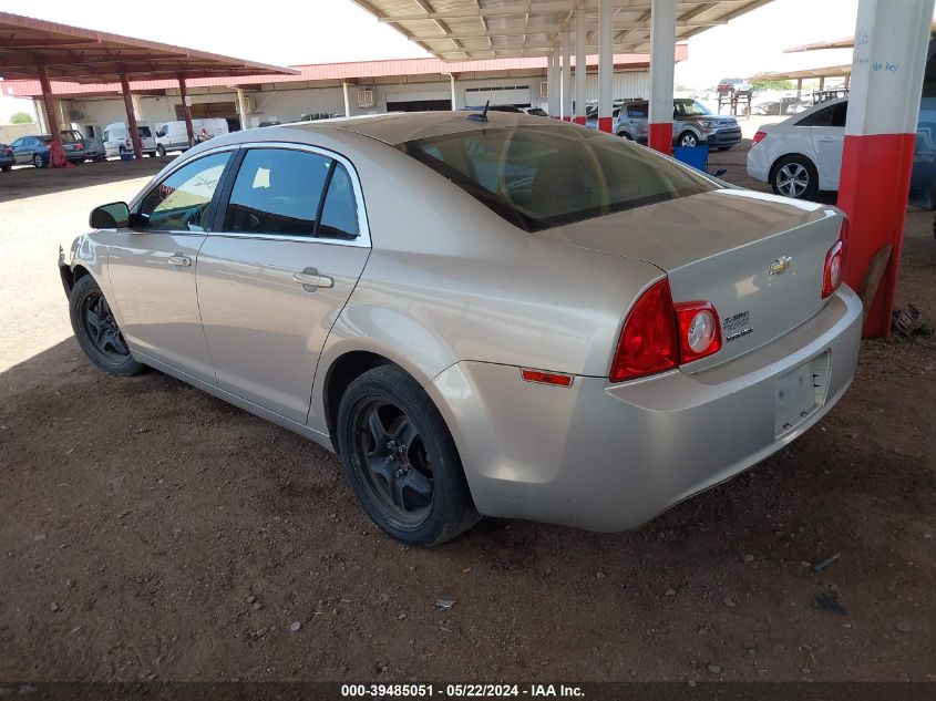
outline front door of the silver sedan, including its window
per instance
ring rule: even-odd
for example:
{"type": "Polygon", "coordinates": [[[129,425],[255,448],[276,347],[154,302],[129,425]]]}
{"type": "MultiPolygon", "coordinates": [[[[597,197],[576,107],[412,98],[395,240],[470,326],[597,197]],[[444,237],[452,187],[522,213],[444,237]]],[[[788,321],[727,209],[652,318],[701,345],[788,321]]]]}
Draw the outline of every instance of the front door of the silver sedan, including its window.
{"type": "Polygon", "coordinates": [[[109,248],[124,337],[147,358],[204,382],[215,371],[202,330],[195,269],[234,148],[187,161],[131,208],[109,248]]]}

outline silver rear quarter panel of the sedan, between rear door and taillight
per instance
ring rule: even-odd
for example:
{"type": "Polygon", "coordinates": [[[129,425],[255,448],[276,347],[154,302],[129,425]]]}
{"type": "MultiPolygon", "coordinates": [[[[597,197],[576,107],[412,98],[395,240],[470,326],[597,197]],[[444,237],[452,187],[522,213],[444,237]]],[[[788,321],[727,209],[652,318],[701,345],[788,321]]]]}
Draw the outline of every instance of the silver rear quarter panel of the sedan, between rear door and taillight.
{"type": "Polygon", "coordinates": [[[410,156],[366,146],[337,148],[360,175],[373,250],[317,380],[353,350],[423,384],[461,360],[607,375],[625,312],[661,270],[523,231],[410,156]]]}

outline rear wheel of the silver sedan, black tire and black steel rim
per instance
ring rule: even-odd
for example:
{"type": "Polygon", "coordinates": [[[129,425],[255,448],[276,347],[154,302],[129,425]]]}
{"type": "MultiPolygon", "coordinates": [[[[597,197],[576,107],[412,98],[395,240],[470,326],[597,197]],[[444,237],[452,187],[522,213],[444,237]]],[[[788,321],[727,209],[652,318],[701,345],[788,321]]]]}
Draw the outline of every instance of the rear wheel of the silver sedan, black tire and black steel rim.
{"type": "Polygon", "coordinates": [[[480,520],[442,414],[399,367],[381,365],[351,382],[337,425],[344,478],[389,536],[429,547],[480,520]]]}

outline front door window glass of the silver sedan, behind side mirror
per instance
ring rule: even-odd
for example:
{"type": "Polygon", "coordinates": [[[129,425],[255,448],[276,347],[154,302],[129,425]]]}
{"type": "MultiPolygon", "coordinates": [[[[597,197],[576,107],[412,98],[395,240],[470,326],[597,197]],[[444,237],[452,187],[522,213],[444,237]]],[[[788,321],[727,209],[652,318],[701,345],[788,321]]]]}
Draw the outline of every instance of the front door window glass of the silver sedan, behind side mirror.
{"type": "Polygon", "coordinates": [[[230,152],[193,161],[169,175],[143,199],[133,228],[163,231],[204,231],[212,202],[230,152]]]}

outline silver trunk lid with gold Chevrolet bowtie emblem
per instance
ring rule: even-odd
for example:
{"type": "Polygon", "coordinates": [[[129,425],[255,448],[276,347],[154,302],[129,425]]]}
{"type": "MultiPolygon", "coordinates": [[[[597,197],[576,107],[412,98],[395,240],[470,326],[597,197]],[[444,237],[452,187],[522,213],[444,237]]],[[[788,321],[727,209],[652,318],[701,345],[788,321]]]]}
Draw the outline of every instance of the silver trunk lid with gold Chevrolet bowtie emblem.
{"type": "Polygon", "coordinates": [[[666,271],[673,301],[711,302],[723,344],[685,365],[696,371],[763,346],[819,311],[825,256],[841,226],[830,206],[719,189],[544,235],[654,264],[666,271]]]}

